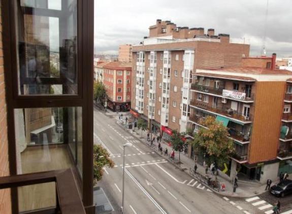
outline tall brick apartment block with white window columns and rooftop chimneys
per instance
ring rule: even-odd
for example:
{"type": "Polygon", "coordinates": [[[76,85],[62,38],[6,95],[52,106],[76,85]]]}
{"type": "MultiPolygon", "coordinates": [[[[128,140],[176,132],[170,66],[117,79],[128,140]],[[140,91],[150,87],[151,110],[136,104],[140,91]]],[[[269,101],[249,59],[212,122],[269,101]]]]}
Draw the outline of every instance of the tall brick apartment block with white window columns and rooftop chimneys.
{"type": "Polygon", "coordinates": [[[177,27],[156,20],[149,37],[133,45],[131,108],[153,132],[169,139],[172,130],[186,131],[190,113],[191,74],[196,68],[239,66],[249,45],[230,41],[214,29],[177,27]]]}

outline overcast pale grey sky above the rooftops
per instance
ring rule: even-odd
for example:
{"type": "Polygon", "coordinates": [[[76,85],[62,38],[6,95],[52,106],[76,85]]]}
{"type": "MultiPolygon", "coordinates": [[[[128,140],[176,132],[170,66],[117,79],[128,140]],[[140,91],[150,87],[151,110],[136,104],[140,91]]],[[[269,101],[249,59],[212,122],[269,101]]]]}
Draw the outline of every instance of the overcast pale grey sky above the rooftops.
{"type": "MultiPolygon", "coordinates": [[[[177,26],[215,29],[250,44],[250,55],[260,55],[265,32],[267,0],[95,0],[95,52],[117,53],[120,44],[137,44],[149,35],[156,19],[177,26]]],[[[267,55],[292,56],[292,1],[269,0],[267,55]]]]}

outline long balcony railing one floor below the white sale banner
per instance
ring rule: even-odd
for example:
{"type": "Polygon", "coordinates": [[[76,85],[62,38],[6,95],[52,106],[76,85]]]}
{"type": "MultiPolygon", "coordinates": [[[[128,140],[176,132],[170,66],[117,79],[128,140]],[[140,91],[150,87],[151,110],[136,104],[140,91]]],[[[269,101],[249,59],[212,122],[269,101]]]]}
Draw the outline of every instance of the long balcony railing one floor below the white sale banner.
{"type": "Polygon", "coordinates": [[[202,108],[202,109],[206,109],[208,111],[211,111],[211,112],[214,112],[214,113],[217,113],[217,114],[222,114],[222,115],[227,116],[227,117],[238,119],[238,120],[241,120],[241,121],[251,121],[251,118],[252,118],[251,114],[245,116],[241,112],[235,111],[233,109],[226,108],[226,107],[217,107],[217,108],[215,108],[215,107],[211,107],[211,106],[209,106],[209,105],[207,105],[207,104],[205,104],[203,102],[191,101],[190,105],[196,106],[196,107],[199,107],[199,108],[202,108]]]}

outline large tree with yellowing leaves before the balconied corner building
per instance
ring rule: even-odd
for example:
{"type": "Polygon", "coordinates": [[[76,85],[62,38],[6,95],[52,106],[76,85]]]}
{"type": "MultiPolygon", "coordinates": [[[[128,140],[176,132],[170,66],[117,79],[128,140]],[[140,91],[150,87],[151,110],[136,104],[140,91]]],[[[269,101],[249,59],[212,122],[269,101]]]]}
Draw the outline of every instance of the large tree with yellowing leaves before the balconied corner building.
{"type": "Polygon", "coordinates": [[[229,156],[233,154],[233,141],[228,138],[228,129],[219,123],[213,116],[207,116],[202,120],[201,128],[198,133],[194,134],[191,142],[197,155],[205,157],[205,162],[215,167],[221,167],[228,162],[229,156]]]}

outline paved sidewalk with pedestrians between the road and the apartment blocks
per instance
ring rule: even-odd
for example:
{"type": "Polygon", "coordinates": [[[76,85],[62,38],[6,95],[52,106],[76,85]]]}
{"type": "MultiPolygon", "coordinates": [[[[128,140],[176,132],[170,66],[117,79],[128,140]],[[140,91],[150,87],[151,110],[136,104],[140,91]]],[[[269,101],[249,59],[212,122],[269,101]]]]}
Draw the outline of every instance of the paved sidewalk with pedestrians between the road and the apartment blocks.
{"type": "MultiPolygon", "coordinates": [[[[115,112],[113,112],[114,115],[116,115],[115,112]]],[[[120,124],[119,124],[120,125],[120,124]]],[[[132,130],[127,130],[129,132],[129,134],[133,135],[134,137],[138,138],[140,141],[142,141],[143,143],[146,143],[146,139],[147,139],[147,132],[148,131],[143,131],[142,135],[141,135],[141,131],[140,130],[135,130],[135,132],[133,133],[132,130]]],[[[152,134],[153,137],[153,134],[152,134]]],[[[155,140],[155,145],[158,145],[158,143],[155,140]]],[[[168,149],[168,154],[170,154],[170,152],[172,151],[172,147],[168,145],[168,143],[164,142],[164,140],[161,141],[161,146],[163,147],[163,151],[165,150],[165,148],[168,149]]],[[[157,150],[155,150],[156,154],[164,157],[165,159],[167,159],[168,161],[170,161],[168,159],[168,157],[166,158],[164,156],[164,152],[163,155],[160,155],[160,152],[158,152],[157,150]]],[[[179,157],[179,152],[175,151],[175,158],[178,159],[179,157]]],[[[176,167],[181,168],[182,171],[184,171],[187,174],[190,174],[190,168],[193,169],[194,166],[194,161],[191,160],[190,158],[188,158],[186,155],[183,154],[183,152],[180,153],[180,161],[182,162],[181,164],[174,164],[176,167]]],[[[197,171],[199,171],[202,174],[205,174],[205,167],[203,167],[200,164],[197,164],[198,169],[197,171]]],[[[208,170],[208,175],[211,176],[212,178],[215,178],[214,175],[211,175],[211,170],[208,170]]],[[[231,197],[238,197],[238,198],[247,198],[247,197],[252,197],[255,195],[259,195],[262,194],[265,191],[266,185],[261,185],[257,182],[243,182],[243,181],[238,181],[238,188],[236,189],[236,192],[233,193],[233,182],[230,182],[229,180],[221,177],[220,175],[217,176],[217,180],[219,182],[224,182],[225,184],[225,191],[220,191],[220,192],[216,192],[220,195],[224,195],[224,196],[231,196],[231,197]]],[[[273,185],[273,184],[272,184],[273,185]]],[[[211,188],[210,188],[211,189],[211,188]]]]}

